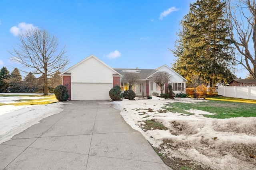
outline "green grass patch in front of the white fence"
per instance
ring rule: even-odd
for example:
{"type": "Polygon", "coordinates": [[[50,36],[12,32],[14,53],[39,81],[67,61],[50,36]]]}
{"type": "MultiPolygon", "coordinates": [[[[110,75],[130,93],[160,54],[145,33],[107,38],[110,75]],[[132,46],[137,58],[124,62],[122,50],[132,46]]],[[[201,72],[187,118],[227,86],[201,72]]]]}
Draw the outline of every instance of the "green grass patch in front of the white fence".
{"type": "Polygon", "coordinates": [[[185,114],[188,114],[186,110],[189,109],[207,111],[210,113],[214,113],[214,115],[204,115],[204,117],[217,119],[226,119],[231,117],[256,117],[255,104],[244,102],[230,102],[230,99],[220,99],[222,100],[208,100],[207,102],[200,102],[196,104],[176,102],[167,104],[164,108],[174,113],[178,112],[185,114]]]}

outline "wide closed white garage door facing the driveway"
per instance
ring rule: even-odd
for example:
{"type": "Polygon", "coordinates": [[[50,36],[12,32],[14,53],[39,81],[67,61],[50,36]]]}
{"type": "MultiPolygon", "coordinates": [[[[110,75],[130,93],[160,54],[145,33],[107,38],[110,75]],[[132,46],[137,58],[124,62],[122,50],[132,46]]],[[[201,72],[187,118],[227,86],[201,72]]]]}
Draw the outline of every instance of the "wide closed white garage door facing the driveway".
{"type": "Polygon", "coordinates": [[[112,83],[72,83],[71,100],[110,100],[112,83]]]}

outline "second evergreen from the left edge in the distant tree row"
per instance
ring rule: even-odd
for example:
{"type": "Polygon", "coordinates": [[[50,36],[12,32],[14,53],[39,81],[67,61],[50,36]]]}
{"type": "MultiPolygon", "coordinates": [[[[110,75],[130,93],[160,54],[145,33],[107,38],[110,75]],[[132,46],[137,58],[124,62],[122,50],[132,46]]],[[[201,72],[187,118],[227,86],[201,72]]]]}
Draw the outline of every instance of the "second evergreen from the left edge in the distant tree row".
{"type": "Polygon", "coordinates": [[[10,92],[20,92],[21,89],[22,76],[18,68],[14,68],[10,75],[10,86],[8,91],[10,92]]]}

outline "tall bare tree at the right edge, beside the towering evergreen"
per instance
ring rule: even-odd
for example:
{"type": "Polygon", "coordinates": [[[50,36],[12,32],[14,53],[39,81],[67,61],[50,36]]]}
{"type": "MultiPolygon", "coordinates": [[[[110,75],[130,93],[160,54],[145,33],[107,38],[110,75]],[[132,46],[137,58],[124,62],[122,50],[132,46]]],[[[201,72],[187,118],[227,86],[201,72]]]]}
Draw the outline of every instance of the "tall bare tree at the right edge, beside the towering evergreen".
{"type": "Polygon", "coordinates": [[[229,35],[241,64],[256,79],[256,3],[255,0],[226,0],[229,35]],[[250,45],[253,43],[253,47],[250,45]]]}

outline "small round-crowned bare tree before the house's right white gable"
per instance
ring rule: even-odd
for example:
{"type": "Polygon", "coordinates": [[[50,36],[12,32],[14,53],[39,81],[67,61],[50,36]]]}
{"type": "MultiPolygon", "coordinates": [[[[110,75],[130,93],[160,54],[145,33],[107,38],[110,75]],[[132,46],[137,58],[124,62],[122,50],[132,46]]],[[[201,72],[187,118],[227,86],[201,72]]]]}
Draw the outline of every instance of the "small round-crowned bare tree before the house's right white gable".
{"type": "Polygon", "coordinates": [[[159,71],[159,72],[156,72],[152,76],[151,80],[153,82],[155,82],[158,86],[160,86],[160,91],[161,91],[161,94],[162,94],[163,93],[163,86],[168,80],[170,80],[170,78],[171,78],[171,75],[168,72],[159,71]]]}

